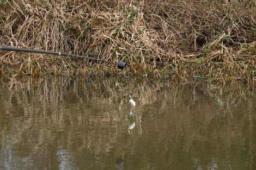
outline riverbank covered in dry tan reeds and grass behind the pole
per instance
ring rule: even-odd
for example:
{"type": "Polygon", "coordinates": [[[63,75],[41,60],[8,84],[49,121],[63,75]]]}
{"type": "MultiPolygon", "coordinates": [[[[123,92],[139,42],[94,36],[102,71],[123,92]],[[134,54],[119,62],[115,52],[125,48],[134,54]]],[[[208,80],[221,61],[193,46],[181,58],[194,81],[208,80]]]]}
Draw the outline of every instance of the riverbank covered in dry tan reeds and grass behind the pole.
{"type": "Polygon", "coordinates": [[[1,74],[256,79],[255,1],[1,1],[0,43],[129,64],[0,52],[1,74]]]}

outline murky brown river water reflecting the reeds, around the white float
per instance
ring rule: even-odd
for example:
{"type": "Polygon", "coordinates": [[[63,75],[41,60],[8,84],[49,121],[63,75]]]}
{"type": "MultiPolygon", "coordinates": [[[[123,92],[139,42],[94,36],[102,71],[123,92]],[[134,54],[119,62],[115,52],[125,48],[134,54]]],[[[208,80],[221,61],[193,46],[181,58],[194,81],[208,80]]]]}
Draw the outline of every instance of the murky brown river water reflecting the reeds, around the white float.
{"type": "Polygon", "coordinates": [[[0,92],[0,169],[256,167],[247,86],[2,78],[0,92]]]}

